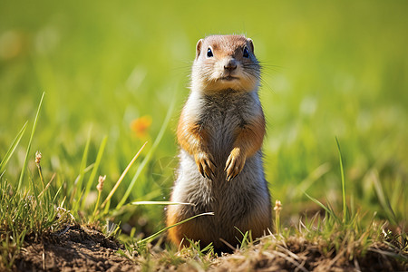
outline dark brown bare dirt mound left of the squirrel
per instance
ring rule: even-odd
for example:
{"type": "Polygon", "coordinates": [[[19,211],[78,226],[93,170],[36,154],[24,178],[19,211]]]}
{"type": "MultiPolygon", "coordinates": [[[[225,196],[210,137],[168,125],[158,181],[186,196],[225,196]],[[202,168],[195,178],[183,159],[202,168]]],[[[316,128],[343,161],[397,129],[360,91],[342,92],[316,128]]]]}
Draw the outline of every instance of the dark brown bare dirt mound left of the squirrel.
{"type": "MultiPolygon", "coordinates": [[[[27,238],[15,262],[18,271],[134,271],[137,265],[117,250],[121,245],[91,228],[71,226],[44,235],[42,241],[27,238]]],[[[137,269],[139,270],[139,269],[137,269]]]]}

